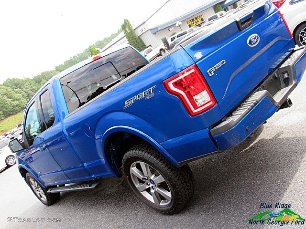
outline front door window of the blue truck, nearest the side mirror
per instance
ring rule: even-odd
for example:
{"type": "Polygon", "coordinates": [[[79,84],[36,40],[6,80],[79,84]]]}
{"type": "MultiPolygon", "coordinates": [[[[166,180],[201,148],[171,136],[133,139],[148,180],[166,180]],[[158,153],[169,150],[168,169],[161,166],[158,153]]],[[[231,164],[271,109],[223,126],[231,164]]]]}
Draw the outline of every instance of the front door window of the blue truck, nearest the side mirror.
{"type": "Polygon", "coordinates": [[[28,109],[27,117],[25,119],[25,135],[28,139],[29,145],[33,144],[34,138],[42,133],[38,115],[36,112],[35,103],[28,109]]]}

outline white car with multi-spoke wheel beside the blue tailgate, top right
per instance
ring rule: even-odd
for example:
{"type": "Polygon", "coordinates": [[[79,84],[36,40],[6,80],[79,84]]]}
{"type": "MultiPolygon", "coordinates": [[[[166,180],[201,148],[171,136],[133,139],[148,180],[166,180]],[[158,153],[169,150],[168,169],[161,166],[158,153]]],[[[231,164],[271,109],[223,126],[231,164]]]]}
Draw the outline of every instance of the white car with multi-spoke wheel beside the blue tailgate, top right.
{"type": "Polygon", "coordinates": [[[271,0],[283,14],[298,46],[306,46],[306,0],[271,0]]]}

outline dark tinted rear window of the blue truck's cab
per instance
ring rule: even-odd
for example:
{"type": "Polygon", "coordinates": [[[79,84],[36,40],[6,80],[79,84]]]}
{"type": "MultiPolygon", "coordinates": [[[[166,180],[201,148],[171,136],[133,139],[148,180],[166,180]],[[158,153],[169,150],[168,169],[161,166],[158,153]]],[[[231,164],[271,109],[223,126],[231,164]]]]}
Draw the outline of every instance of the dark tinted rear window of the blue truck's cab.
{"type": "Polygon", "coordinates": [[[61,85],[69,113],[147,64],[139,53],[126,47],[66,75],[61,85]]]}

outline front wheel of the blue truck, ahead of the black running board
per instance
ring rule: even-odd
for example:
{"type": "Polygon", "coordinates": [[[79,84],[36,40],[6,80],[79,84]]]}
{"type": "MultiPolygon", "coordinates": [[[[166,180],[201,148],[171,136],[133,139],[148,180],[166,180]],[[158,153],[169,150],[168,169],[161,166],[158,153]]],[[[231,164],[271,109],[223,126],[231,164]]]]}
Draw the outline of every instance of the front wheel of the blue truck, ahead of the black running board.
{"type": "Polygon", "coordinates": [[[25,179],[27,180],[28,186],[31,188],[32,192],[43,204],[50,206],[59,200],[60,193],[47,193],[47,190],[39,184],[31,173],[27,173],[25,179]]]}

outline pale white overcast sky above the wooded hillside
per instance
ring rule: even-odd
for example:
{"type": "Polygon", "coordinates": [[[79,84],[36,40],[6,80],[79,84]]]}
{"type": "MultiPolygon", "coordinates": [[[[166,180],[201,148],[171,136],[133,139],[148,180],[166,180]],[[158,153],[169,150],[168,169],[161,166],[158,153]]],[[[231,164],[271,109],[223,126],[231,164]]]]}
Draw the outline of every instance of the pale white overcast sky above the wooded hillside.
{"type": "Polygon", "coordinates": [[[0,84],[52,70],[118,31],[140,24],[166,0],[2,1],[0,84]]]}

